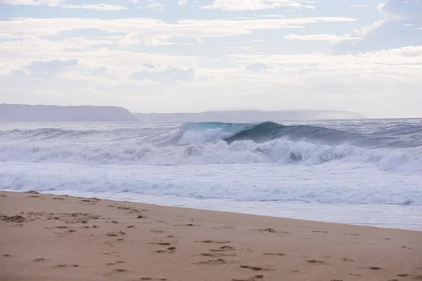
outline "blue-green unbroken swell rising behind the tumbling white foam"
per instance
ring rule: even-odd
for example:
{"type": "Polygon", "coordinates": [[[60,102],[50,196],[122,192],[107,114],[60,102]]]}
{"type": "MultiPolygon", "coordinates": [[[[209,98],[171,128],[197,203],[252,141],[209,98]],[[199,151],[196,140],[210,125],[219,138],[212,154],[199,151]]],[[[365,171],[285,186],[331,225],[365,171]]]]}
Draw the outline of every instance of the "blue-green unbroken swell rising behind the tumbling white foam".
{"type": "Polygon", "coordinates": [[[37,128],[0,131],[1,143],[148,143],[152,145],[189,145],[225,141],[264,143],[276,139],[305,141],[318,145],[352,145],[359,148],[422,148],[422,126],[401,124],[380,126],[368,132],[343,131],[324,126],[283,125],[275,122],[185,124],[94,125],[91,128],[37,128]]]}

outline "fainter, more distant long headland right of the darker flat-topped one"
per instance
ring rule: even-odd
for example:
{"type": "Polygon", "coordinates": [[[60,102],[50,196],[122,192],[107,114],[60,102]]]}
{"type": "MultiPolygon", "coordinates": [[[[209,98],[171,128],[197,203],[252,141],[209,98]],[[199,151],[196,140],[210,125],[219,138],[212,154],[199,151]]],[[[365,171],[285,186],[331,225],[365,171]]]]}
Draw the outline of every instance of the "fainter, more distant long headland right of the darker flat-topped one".
{"type": "Polygon", "coordinates": [[[141,121],[159,122],[279,122],[283,120],[314,120],[314,119],[366,119],[358,112],[335,110],[242,110],[242,111],[209,111],[200,113],[135,113],[141,121]]]}

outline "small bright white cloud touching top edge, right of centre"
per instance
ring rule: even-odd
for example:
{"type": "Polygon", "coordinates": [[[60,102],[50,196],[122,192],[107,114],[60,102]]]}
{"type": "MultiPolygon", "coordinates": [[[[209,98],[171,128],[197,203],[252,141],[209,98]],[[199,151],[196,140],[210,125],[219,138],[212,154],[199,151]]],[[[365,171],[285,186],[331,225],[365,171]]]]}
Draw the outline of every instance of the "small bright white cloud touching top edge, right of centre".
{"type": "MultiPolygon", "coordinates": [[[[253,11],[266,10],[279,7],[308,8],[309,1],[299,0],[215,0],[211,5],[201,6],[204,9],[219,9],[222,11],[253,11]],[[305,4],[303,4],[305,3],[305,4]]],[[[314,2],[312,2],[314,3],[314,2]]]]}

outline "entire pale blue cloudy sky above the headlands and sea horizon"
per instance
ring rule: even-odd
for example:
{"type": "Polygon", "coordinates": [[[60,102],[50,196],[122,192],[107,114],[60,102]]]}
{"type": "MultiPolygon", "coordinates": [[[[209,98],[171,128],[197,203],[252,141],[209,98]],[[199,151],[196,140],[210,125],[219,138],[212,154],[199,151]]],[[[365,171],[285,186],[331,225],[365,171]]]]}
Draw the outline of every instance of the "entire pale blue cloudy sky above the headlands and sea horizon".
{"type": "Polygon", "coordinates": [[[0,0],[0,103],[422,117],[422,0],[0,0]]]}

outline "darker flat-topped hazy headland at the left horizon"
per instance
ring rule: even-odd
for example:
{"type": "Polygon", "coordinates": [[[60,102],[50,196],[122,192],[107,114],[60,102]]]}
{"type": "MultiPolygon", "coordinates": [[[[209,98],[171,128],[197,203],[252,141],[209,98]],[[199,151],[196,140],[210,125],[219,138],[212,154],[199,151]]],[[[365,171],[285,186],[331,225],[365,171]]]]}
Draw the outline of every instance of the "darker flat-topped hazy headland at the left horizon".
{"type": "Polygon", "coordinates": [[[123,107],[0,104],[0,122],[130,122],[139,119],[123,107]]]}

